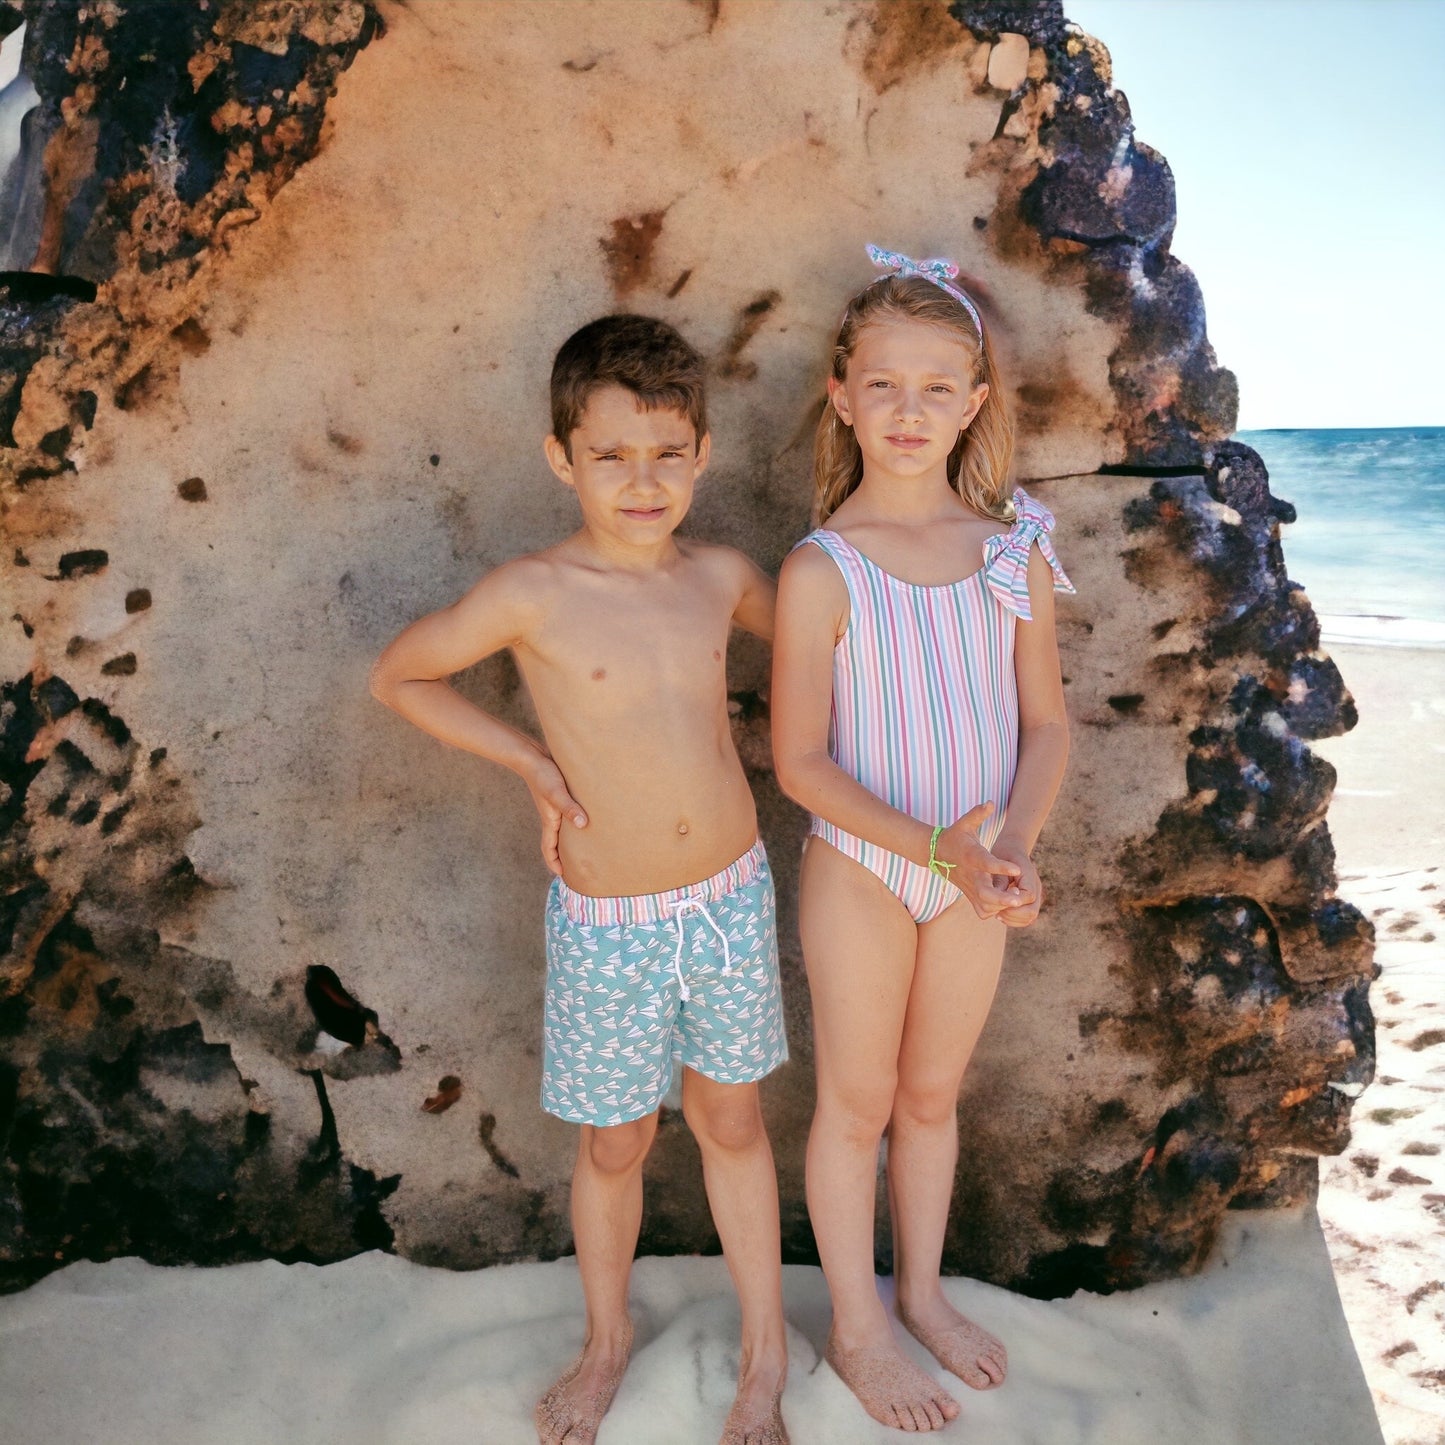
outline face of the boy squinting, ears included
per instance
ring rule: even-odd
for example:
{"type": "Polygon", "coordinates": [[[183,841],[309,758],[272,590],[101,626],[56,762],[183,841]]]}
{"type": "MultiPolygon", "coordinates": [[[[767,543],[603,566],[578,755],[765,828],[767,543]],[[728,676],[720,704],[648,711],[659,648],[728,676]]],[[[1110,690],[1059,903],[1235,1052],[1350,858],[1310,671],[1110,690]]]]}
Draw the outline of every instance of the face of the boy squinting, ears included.
{"type": "Polygon", "coordinates": [[[549,436],[548,462],[577,493],[587,529],[629,546],[653,545],[676,530],[709,452],[709,438],[699,444],[681,412],[644,412],[621,386],[588,397],[571,442],[569,461],[549,436]]]}

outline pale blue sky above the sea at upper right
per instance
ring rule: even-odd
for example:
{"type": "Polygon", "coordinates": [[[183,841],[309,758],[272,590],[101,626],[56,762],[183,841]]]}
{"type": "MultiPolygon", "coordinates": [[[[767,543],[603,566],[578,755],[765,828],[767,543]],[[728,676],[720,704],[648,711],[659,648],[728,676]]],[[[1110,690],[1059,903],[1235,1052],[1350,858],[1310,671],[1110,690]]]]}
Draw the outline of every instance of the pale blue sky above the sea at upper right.
{"type": "Polygon", "coordinates": [[[1179,192],[1240,426],[1445,425],[1445,0],[1065,0],[1179,192]]]}

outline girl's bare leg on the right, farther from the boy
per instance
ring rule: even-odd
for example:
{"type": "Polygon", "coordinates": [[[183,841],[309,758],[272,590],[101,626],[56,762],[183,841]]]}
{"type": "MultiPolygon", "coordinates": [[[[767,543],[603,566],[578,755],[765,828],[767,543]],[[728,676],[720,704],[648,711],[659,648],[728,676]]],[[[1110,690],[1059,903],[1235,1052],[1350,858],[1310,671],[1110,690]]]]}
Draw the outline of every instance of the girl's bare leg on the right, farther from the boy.
{"type": "Polygon", "coordinates": [[[958,1090],[998,985],[1006,928],[957,902],[919,929],[889,1126],[899,1316],[975,1390],[1003,1380],[1003,1345],[944,1298],[939,1261],[958,1163],[958,1090]]]}

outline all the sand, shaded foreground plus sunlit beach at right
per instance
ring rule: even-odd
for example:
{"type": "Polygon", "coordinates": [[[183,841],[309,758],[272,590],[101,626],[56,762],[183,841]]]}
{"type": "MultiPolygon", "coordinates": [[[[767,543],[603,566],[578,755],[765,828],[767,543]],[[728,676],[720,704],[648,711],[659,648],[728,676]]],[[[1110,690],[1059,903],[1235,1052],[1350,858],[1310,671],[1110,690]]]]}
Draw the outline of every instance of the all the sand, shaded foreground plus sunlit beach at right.
{"type": "MultiPolygon", "coordinates": [[[[1201,1276],[1129,1295],[1040,1302],[949,1282],[1012,1361],[998,1392],[954,1381],[964,1416],[949,1436],[1445,1439],[1445,652],[1332,652],[1361,711],[1354,733],[1319,747],[1340,770],[1329,816],[1341,890],[1374,919],[1383,971],[1371,993],[1379,1077],[1355,1107],[1351,1147],[1324,1163],[1319,1217],[1231,1215],[1201,1276]]],[[[603,1445],[705,1445],[737,1368],[725,1267],[642,1260],[633,1293],[639,1351],[603,1445]]],[[[819,1364],[819,1273],[789,1267],[786,1302],[796,1445],[897,1439],[819,1364]]],[[[14,1445],[526,1445],[532,1402],[579,1338],[569,1260],[473,1274],[383,1254],[325,1269],[74,1264],[0,1299],[0,1399],[14,1445]]]]}

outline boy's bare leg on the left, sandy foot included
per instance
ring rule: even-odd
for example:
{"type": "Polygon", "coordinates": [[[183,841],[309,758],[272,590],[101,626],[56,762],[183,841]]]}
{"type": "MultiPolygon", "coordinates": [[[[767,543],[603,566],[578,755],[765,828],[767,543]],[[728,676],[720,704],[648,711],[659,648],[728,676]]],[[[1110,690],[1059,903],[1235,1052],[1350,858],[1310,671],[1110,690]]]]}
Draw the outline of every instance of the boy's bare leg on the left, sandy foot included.
{"type": "Polygon", "coordinates": [[[587,1302],[582,1353],[536,1407],[543,1445],[591,1445],[631,1353],[627,1280],[642,1228],[642,1165],[657,1116],[582,1126],[572,1170],[572,1238],[587,1302]]]}

